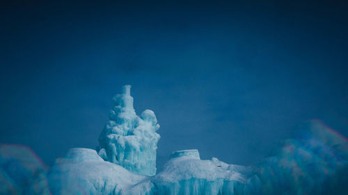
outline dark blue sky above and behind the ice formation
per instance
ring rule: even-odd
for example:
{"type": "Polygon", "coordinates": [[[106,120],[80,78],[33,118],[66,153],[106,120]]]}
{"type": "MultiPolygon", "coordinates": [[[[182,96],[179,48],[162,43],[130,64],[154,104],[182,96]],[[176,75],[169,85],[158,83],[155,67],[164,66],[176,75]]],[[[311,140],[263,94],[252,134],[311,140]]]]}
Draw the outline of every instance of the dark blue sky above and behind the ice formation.
{"type": "Polygon", "coordinates": [[[0,142],[47,164],[95,149],[124,84],[157,115],[159,166],[179,149],[252,164],[306,119],[347,137],[347,3],[260,2],[1,6],[0,142]]]}

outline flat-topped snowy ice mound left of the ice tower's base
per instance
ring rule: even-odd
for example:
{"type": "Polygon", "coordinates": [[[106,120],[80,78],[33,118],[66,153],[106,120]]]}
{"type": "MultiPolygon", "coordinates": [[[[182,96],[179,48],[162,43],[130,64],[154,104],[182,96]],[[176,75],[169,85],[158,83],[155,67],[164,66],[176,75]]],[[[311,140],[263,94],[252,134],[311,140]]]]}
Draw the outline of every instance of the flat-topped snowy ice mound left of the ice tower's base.
{"type": "Polygon", "coordinates": [[[145,176],[104,161],[92,149],[70,149],[49,174],[52,194],[120,194],[145,176]]]}

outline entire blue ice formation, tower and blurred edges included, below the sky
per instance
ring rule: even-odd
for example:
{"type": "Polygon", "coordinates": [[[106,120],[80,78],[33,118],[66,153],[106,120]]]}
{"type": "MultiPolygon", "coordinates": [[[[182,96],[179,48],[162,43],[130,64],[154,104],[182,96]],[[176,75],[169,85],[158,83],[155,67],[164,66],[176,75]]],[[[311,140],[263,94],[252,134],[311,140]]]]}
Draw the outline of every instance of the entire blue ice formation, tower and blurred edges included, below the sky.
{"type": "Polygon", "coordinates": [[[113,99],[100,148],[70,149],[47,173],[28,149],[0,146],[0,194],[234,195],[347,194],[348,140],[308,121],[271,157],[250,167],[198,150],[175,151],[155,174],[154,113],[136,116],[130,86],[113,99]],[[23,155],[24,154],[24,155],[23,155]],[[46,174],[48,176],[46,177],[46,174]]]}

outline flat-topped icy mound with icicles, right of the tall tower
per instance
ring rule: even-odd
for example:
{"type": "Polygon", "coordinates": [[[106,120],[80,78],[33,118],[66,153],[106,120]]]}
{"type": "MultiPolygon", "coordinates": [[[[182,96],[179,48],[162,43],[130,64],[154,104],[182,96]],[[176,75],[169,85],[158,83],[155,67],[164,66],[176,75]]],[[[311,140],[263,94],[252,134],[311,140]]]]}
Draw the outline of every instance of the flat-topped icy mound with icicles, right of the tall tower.
{"type": "Polygon", "coordinates": [[[200,160],[197,150],[174,152],[152,183],[154,194],[252,194],[260,189],[249,167],[200,160]]]}

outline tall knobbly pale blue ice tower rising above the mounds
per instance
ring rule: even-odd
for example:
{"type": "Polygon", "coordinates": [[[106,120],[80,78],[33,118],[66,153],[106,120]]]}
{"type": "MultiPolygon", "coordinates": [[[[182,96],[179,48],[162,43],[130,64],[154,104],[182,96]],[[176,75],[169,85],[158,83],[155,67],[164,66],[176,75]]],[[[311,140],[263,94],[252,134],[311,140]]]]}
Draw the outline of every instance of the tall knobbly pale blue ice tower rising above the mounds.
{"type": "Polygon", "coordinates": [[[134,173],[154,176],[159,124],[152,110],[136,115],[130,89],[131,85],[125,85],[122,94],[113,97],[109,121],[99,137],[98,154],[134,173]]]}

